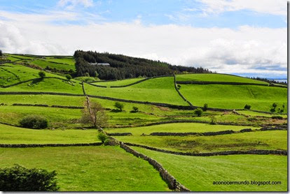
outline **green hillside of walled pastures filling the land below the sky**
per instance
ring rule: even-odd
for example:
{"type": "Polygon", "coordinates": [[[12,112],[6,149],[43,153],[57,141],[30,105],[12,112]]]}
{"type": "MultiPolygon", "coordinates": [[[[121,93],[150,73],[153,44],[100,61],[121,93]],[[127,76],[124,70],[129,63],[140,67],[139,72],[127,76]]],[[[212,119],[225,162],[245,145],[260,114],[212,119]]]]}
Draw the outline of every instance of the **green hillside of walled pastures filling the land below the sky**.
{"type": "Polygon", "coordinates": [[[197,69],[147,59],[83,54],[93,58],[1,57],[0,167],[56,170],[60,191],[287,190],[287,87],[207,70],[188,73],[197,69]],[[149,68],[156,74],[99,80],[90,74],[95,69],[83,68],[92,70],[90,77],[78,77],[79,60],[115,66],[104,73],[149,68]],[[108,118],[102,129],[81,121],[88,103],[102,105],[108,118]],[[48,126],[25,128],[20,120],[27,116],[43,117],[48,126]],[[109,144],[98,139],[100,133],[109,144]],[[281,183],[212,184],[218,180],[281,183]]]}

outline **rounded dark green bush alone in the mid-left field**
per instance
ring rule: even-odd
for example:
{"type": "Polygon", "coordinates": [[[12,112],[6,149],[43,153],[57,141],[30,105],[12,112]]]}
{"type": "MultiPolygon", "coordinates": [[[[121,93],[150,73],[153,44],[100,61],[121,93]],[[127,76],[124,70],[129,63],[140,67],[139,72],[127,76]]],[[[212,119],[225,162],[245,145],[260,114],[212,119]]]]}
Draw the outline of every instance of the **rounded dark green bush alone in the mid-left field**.
{"type": "Polygon", "coordinates": [[[48,120],[37,115],[29,115],[21,119],[19,124],[24,128],[40,129],[48,127],[48,120]]]}

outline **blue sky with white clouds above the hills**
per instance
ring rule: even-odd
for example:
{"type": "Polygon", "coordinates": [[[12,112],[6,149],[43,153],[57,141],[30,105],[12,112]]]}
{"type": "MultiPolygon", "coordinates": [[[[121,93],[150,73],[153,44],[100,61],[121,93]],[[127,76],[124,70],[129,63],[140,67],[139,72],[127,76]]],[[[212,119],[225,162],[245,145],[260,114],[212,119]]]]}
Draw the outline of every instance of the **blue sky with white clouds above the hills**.
{"type": "Polygon", "coordinates": [[[0,50],[93,50],[286,78],[286,0],[0,0],[0,50]]]}

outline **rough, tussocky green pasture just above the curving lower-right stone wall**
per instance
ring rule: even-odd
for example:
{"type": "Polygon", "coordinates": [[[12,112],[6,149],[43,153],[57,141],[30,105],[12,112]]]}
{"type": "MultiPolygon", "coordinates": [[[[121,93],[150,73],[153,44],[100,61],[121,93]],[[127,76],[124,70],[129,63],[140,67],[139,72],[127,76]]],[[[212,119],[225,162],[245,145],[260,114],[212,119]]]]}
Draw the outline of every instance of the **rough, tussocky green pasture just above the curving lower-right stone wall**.
{"type": "Polygon", "coordinates": [[[213,152],[251,149],[287,149],[287,131],[257,131],[216,136],[120,136],[122,142],[183,152],[213,152]]]}

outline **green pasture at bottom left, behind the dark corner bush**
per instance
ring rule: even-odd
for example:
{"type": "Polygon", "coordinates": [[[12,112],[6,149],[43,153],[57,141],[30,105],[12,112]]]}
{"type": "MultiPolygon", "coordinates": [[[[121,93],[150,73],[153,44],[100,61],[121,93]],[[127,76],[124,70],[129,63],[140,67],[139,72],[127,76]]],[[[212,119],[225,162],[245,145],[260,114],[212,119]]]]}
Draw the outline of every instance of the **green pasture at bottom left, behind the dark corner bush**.
{"type": "Polygon", "coordinates": [[[0,158],[0,167],[56,170],[61,191],[169,191],[148,162],[120,147],[2,148],[0,158]]]}

